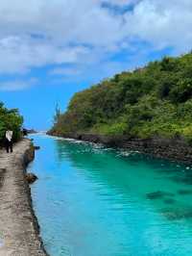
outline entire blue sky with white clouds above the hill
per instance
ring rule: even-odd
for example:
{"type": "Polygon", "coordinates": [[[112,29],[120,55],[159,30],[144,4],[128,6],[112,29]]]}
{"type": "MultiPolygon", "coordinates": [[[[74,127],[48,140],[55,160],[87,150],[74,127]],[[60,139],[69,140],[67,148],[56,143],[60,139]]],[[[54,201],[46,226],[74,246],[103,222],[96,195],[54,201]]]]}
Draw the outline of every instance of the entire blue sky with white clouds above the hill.
{"type": "Polygon", "coordinates": [[[7,0],[0,3],[0,101],[25,125],[123,70],[192,48],[190,0],[7,0]]]}

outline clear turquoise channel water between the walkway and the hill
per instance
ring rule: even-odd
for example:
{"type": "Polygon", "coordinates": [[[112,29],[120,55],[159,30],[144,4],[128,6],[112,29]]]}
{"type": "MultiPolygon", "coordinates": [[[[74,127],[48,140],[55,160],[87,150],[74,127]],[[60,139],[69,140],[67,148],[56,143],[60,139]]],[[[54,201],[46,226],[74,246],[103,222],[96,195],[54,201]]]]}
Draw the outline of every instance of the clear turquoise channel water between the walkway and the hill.
{"type": "Polygon", "coordinates": [[[192,255],[191,166],[33,138],[33,200],[51,256],[192,255]]]}

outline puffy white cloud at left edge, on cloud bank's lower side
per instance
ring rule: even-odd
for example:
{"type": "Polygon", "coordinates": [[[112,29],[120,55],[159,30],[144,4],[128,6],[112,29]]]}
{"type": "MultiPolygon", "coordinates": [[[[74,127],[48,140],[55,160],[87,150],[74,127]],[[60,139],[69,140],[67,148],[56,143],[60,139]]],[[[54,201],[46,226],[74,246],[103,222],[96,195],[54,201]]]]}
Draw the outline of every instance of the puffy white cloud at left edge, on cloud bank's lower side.
{"type": "Polygon", "coordinates": [[[10,36],[0,39],[0,73],[26,72],[33,66],[78,63],[84,46],[57,46],[48,40],[10,36]]]}

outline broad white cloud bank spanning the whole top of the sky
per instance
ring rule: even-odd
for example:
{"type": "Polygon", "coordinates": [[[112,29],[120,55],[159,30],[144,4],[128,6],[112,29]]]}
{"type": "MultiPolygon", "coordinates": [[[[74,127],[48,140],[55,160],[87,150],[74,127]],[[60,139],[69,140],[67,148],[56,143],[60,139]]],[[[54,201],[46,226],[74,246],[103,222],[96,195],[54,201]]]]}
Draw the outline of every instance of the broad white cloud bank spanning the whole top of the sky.
{"type": "Polygon", "coordinates": [[[191,0],[1,1],[0,74],[53,64],[53,74],[72,75],[57,68],[108,64],[132,49],[136,54],[135,39],[182,53],[191,48],[191,27],[191,0]],[[125,12],[114,14],[116,8],[125,12]]]}

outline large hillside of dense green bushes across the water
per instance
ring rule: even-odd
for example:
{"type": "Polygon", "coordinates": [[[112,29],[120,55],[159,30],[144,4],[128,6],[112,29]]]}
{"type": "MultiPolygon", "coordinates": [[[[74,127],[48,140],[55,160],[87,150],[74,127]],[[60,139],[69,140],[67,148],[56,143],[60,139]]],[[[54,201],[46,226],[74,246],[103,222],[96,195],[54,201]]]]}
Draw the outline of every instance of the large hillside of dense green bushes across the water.
{"type": "Polygon", "coordinates": [[[165,57],[76,93],[51,130],[192,141],[192,54],[165,57]]]}

